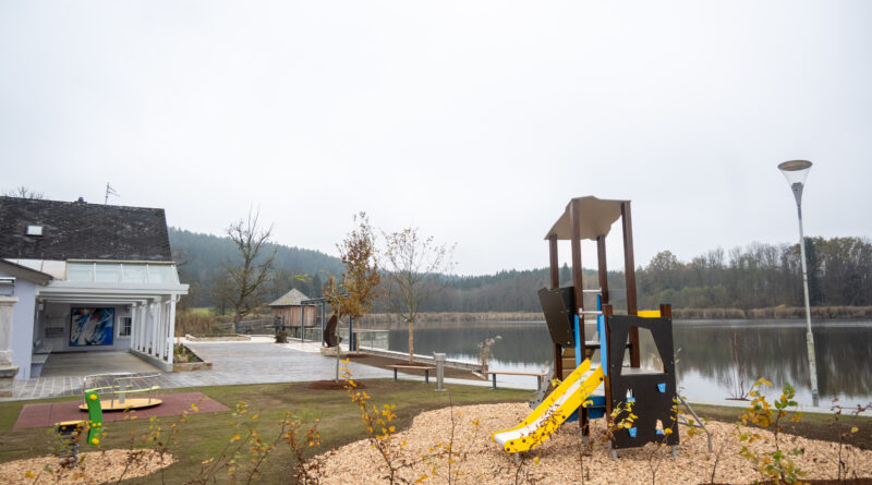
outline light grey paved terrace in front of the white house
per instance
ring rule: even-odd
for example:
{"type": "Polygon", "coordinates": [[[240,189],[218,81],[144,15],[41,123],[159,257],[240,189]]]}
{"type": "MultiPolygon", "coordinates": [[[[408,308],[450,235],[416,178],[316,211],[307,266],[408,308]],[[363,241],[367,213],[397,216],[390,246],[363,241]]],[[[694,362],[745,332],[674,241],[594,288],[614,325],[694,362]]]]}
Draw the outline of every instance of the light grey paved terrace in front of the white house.
{"type": "MultiPolygon", "coordinates": [[[[210,371],[193,371],[181,373],[161,373],[159,378],[162,388],[222,386],[235,384],[267,384],[267,383],[300,383],[311,380],[332,379],[336,374],[334,357],[324,356],[312,351],[294,350],[268,342],[198,342],[187,343],[207,361],[213,363],[210,371]]],[[[308,350],[308,349],[307,349],[308,350]]],[[[92,360],[97,353],[90,353],[86,359],[92,360]]],[[[130,355],[130,354],[126,354],[130,355]]],[[[64,359],[75,359],[70,354],[57,354],[64,359]]],[[[132,355],[131,355],[132,356],[132,355]]],[[[82,356],[78,356],[82,357],[82,356]]],[[[106,357],[109,357],[107,354],[106,357]]],[[[140,361],[138,359],[136,359],[140,361]]],[[[140,361],[142,362],[142,361],[140,361]]],[[[349,368],[355,378],[384,378],[392,377],[391,371],[350,363],[349,368]]],[[[45,399],[56,397],[74,397],[82,393],[83,375],[118,372],[118,368],[104,366],[74,366],[69,374],[57,375],[61,372],[55,368],[51,374],[27,380],[14,383],[14,397],[3,401],[19,401],[27,399],[45,399]],[[82,374],[85,373],[85,374],[82,374]]],[[[135,372],[142,371],[136,368],[135,372]]],[[[62,373],[62,372],[61,372],[62,373]]],[[[148,372],[140,372],[146,374],[148,372]]]]}

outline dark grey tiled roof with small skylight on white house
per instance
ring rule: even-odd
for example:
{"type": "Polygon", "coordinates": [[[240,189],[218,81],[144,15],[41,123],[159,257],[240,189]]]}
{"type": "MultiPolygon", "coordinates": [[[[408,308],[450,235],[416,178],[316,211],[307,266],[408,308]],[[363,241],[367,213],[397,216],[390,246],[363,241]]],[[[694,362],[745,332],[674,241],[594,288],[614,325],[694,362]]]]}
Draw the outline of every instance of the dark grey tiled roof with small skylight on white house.
{"type": "Polygon", "coordinates": [[[4,196],[0,257],[172,260],[164,209],[4,196]],[[29,225],[44,235],[26,235],[29,225]]]}

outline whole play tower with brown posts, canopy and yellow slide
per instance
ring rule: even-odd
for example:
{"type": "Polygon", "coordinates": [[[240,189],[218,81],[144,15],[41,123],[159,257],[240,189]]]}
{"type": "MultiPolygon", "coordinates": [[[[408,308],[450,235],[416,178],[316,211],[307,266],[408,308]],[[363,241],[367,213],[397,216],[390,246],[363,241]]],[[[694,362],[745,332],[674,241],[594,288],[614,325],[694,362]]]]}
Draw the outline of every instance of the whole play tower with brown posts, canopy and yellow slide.
{"type": "MultiPolygon", "coordinates": [[[[519,453],[542,444],[565,422],[576,420],[586,440],[591,419],[611,417],[613,423],[620,423],[632,413],[637,417],[626,421],[629,427],[609,434],[613,457],[619,449],[652,441],[671,446],[675,453],[679,442],[677,425],[689,424],[677,407],[683,405],[697,416],[676,392],[671,307],[661,305],[658,311],[640,312],[637,306],[630,201],[573,198],[545,239],[550,250],[550,289],[543,288],[538,295],[554,342],[553,376],[560,384],[543,396],[524,421],[494,433],[493,440],[506,452],[519,453]],[[618,219],[622,229],[627,315],[613,314],[609,304],[605,243],[618,219]],[[598,289],[583,286],[582,239],[596,241],[598,289]],[[565,288],[560,288],[559,280],[558,240],[569,240],[571,247],[572,286],[565,288]],[[585,294],[596,298],[596,310],[584,308],[585,294]],[[585,338],[584,329],[590,317],[596,322],[598,336],[591,340],[585,338]],[[651,332],[659,354],[659,361],[651,360],[654,368],[641,366],[640,328],[651,332]],[[598,366],[591,363],[596,351],[598,366]]],[[[708,440],[711,451],[711,436],[708,440]]]]}

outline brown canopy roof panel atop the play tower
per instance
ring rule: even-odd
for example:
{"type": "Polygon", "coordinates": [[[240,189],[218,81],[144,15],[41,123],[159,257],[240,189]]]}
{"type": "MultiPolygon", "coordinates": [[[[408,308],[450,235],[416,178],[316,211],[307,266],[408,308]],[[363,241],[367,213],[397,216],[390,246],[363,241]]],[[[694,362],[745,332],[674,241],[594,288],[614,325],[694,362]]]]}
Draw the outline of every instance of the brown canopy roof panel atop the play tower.
{"type": "Polygon", "coordinates": [[[608,235],[611,230],[611,225],[620,219],[621,205],[630,201],[611,201],[607,198],[596,198],[592,195],[586,197],[576,197],[569,201],[566,210],[557,219],[557,222],[552,226],[552,229],[545,234],[545,239],[549,240],[557,237],[560,241],[569,241],[572,239],[572,205],[576,204],[574,222],[579,228],[579,239],[589,239],[596,241],[600,235],[608,235]]]}

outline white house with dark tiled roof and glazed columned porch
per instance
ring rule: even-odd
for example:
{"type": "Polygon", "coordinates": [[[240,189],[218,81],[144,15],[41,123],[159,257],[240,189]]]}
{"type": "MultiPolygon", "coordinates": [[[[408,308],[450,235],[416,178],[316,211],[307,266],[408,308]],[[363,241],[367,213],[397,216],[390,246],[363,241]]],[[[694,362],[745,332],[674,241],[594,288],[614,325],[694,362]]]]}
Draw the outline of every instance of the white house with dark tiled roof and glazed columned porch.
{"type": "Polygon", "coordinates": [[[17,379],[38,376],[50,352],[130,349],[172,368],[187,284],[164,209],[0,196],[0,282],[17,379]]]}

